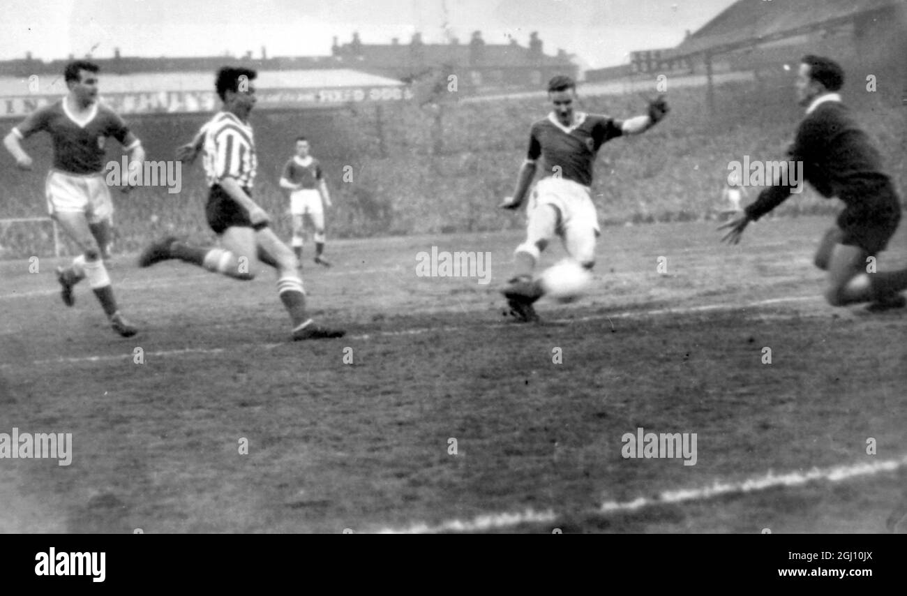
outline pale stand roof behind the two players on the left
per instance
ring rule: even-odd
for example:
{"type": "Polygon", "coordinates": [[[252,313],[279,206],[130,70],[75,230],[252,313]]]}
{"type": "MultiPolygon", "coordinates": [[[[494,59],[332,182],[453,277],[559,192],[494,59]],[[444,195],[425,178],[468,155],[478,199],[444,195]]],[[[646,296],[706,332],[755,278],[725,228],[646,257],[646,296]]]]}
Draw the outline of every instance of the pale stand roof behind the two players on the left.
{"type": "MultiPolygon", "coordinates": [[[[39,76],[39,88],[30,90],[29,80],[24,77],[0,77],[0,97],[25,95],[29,93],[66,93],[63,74],[39,76]]],[[[404,83],[384,76],[359,73],[346,68],[331,70],[265,71],[259,72],[255,80],[258,89],[326,89],[335,87],[399,87],[404,83]]],[[[145,93],[214,91],[214,73],[101,73],[101,93],[145,93]]]]}

